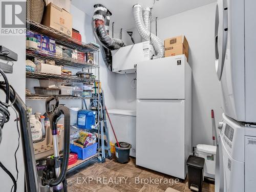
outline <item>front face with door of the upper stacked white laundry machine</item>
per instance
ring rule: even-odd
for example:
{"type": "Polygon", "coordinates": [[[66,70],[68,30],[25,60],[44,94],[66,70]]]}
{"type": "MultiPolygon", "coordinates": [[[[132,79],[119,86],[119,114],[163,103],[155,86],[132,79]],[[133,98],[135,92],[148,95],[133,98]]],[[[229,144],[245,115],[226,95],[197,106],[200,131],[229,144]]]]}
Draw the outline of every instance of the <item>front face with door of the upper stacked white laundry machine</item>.
{"type": "Polygon", "coordinates": [[[215,35],[223,111],[233,119],[245,121],[244,1],[218,1],[215,35]]]}

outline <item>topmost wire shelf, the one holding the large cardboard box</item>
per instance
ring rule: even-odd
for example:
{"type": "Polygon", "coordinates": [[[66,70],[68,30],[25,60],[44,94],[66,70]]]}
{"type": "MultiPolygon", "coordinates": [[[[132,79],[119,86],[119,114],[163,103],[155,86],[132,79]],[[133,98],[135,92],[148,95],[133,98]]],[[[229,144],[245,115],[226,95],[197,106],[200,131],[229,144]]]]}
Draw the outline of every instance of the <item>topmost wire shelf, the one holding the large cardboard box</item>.
{"type": "Polygon", "coordinates": [[[34,22],[33,20],[30,19],[27,19],[27,29],[52,37],[56,40],[58,44],[61,44],[72,49],[76,49],[81,52],[95,53],[99,50],[99,47],[92,43],[86,44],[55,29],[34,22]]]}

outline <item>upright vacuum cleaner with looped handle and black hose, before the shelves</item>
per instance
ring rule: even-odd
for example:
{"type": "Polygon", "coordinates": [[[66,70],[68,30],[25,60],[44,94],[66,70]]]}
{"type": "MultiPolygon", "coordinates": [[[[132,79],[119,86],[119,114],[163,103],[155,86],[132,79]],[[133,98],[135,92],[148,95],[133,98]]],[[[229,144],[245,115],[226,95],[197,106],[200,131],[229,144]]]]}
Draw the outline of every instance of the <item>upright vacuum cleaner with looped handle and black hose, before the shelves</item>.
{"type": "Polygon", "coordinates": [[[47,158],[41,178],[41,191],[62,192],[67,191],[66,173],[69,162],[70,152],[70,111],[66,106],[59,106],[57,96],[51,96],[46,99],[46,113],[50,120],[52,138],[53,138],[53,156],[47,158]],[[55,104],[50,109],[50,102],[55,100],[55,104]],[[61,115],[64,115],[64,139],[63,156],[60,158],[58,146],[58,128],[57,121],[61,115]]]}

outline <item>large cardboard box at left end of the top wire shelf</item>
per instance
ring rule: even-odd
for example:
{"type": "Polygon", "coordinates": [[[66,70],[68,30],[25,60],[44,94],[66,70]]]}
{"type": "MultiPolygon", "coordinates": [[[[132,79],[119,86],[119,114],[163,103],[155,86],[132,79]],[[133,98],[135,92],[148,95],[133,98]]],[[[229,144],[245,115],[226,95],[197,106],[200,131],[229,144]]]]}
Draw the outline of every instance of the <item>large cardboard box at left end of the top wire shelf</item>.
{"type": "Polygon", "coordinates": [[[72,15],[65,9],[50,3],[46,6],[42,25],[72,36],[72,15]]]}

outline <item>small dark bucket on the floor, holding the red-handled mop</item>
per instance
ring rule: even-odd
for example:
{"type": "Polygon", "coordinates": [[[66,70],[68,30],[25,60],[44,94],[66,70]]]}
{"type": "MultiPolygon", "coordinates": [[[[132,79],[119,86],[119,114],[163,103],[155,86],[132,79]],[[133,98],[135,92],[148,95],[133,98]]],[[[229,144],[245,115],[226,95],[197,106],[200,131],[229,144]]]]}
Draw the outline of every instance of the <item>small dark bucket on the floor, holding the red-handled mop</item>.
{"type": "Polygon", "coordinates": [[[118,144],[115,143],[117,162],[119,163],[129,162],[130,150],[132,148],[132,145],[126,142],[119,142],[119,145],[120,147],[118,147],[118,144]]]}

